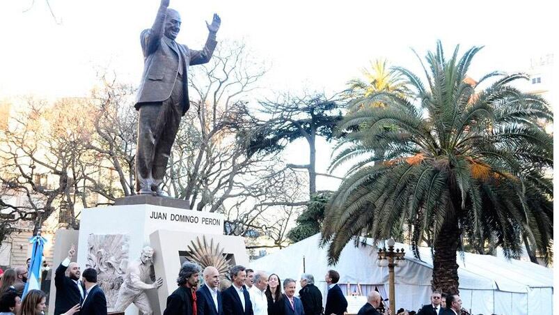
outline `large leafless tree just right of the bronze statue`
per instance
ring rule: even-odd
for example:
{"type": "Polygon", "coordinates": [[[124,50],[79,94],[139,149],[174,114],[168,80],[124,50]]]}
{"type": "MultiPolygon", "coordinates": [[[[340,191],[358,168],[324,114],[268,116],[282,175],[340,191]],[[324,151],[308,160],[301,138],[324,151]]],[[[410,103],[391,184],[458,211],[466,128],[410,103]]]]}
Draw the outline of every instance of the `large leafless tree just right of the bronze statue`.
{"type": "Polygon", "coordinates": [[[191,109],[175,139],[165,189],[193,209],[226,215],[230,235],[265,234],[283,246],[288,222],[305,203],[301,178],[277,154],[249,153],[262,122],[247,100],[266,68],[251,62],[242,43],[220,47],[191,73],[191,109]]]}

